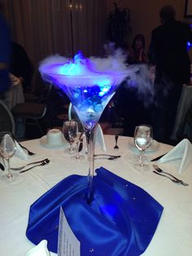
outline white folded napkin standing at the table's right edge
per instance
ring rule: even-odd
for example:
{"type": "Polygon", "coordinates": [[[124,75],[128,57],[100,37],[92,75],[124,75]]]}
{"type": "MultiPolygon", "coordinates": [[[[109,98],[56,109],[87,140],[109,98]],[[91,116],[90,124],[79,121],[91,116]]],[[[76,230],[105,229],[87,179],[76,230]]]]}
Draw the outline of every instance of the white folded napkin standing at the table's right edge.
{"type": "Polygon", "coordinates": [[[178,160],[178,173],[181,174],[192,162],[192,144],[189,139],[182,139],[171,151],[159,159],[159,163],[178,160]]]}

